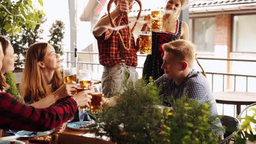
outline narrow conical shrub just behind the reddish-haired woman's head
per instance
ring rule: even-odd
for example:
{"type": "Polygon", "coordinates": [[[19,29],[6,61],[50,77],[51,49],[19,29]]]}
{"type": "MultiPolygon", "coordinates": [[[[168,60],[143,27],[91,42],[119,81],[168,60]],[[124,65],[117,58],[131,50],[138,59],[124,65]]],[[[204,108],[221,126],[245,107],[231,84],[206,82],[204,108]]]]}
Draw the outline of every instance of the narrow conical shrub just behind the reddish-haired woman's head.
{"type": "Polygon", "coordinates": [[[51,26],[50,32],[50,40],[48,43],[52,45],[55,49],[56,53],[63,55],[63,45],[62,39],[64,37],[65,24],[62,21],[56,20],[51,26]]]}

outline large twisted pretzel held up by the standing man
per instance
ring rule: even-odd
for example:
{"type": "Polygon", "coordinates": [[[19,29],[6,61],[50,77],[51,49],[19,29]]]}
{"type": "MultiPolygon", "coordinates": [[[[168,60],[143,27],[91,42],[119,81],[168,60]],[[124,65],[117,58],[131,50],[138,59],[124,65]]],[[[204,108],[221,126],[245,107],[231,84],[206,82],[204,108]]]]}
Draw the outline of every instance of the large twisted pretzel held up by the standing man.
{"type": "MultiPolygon", "coordinates": [[[[111,8],[111,5],[114,1],[119,1],[119,0],[110,0],[108,2],[108,17],[109,17],[109,22],[111,24],[112,27],[117,27],[120,25],[120,22],[121,22],[121,19],[123,16],[125,16],[125,19],[126,19],[126,22],[129,23],[129,19],[128,19],[128,14],[127,13],[122,13],[118,16],[118,24],[117,26],[115,26],[115,23],[114,23],[114,20],[110,14],[110,8],[111,8]]],[[[133,0],[127,0],[129,2],[133,2],[133,0]]],[[[139,13],[137,15],[137,19],[132,27],[132,29],[130,29],[130,27],[128,26],[128,29],[129,29],[129,33],[128,33],[128,46],[126,47],[125,44],[124,44],[124,40],[122,38],[122,35],[119,33],[119,30],[115,31],[114,34],[118,36],[118,40],[121,41],[121,44],[123,45],[124,49],[125,50],[129,50],[131,48],[131,33],[133,32],[136,24],[137,24],[137,20],[139,19],[139,16],[141,16],[141,10],[142,10],[142,5],[141,5],[141,1],[140,0],[134,0],[136,1],[138,4],[139,4],[139,13]]]]}

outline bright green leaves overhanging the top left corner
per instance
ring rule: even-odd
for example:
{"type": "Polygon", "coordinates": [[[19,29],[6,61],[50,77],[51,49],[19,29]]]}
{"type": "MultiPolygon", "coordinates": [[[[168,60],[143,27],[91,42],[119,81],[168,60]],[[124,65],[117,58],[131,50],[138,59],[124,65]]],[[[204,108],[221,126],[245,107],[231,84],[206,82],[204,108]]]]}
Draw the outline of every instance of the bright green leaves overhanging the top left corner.
{"type": "MultiPolygon", "coordinates": [[[[38,3],[43,6],[42,0],[38,3]]],[[[34,9],[31,0],[0,0],[0,30],[5,29],[10,35],[17,35],[22,26],[33,31],[41,22],[39,15],[45,14],[34,9]]]]}

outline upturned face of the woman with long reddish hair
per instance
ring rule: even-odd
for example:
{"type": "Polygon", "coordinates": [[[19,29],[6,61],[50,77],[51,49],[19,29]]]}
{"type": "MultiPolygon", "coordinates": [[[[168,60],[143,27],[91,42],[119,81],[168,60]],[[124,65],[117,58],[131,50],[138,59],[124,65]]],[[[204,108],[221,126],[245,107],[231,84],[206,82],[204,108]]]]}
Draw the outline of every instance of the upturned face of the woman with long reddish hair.
{"type": "Polygon", "coordinates": [[[41,62],[45,70],[56,70],[61,68],[60,56],[55,53],[55,49],[51,45],[47,45],[46,53],[41,62]]]}

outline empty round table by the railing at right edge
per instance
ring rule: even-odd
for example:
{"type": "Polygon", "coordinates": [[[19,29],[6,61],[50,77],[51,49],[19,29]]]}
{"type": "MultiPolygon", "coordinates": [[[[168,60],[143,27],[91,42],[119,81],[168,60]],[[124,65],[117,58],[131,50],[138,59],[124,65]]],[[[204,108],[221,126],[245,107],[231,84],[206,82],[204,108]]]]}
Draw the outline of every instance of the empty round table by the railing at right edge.
{"type": "Polygon", "coordinates": [[[241,105],[256,103],[256,93],[252,92],[215,92],[213,97],[219,104],[236,105],[237,116],[241,112],[241,105]]]}

